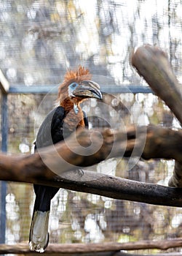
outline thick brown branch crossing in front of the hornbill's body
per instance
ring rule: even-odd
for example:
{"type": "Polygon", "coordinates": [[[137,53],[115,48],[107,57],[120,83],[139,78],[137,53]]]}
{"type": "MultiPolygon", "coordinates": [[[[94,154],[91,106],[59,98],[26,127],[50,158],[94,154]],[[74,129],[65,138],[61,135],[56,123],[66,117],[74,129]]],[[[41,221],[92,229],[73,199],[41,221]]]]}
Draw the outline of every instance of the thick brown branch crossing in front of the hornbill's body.
{"type": "MultiPolygon", "coordinates": [[[[61,177],[65,171],[94,165],[107,157],[164,158],[182,162],[182,132],[173,129],[155,126],[130,127],[126,133],[111,130],[101,133],[81,130],[76,133],[76,140],[80,145],[84,144],[84,147],[79,146],[70,137],[66,143],[44,148],[36,154],[18,156],[0,154],[0,179],[45,183],[52,178],[56,179],[58,175],[61,177]],[[98,150],[95,151],[95,148],[98,150]]],[[[92,173],[91,177],[83,178],[94,179],[95,173],[92,173]]],[[[50,185],[54,186],[54,184],[50,185]]]]}

